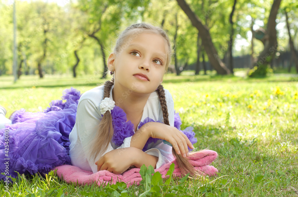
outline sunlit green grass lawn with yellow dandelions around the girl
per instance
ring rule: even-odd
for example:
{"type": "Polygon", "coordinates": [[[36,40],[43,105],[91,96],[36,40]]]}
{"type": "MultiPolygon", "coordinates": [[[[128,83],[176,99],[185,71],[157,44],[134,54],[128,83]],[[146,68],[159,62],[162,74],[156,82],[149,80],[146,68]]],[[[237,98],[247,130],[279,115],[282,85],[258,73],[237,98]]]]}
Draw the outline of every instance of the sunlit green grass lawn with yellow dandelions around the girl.
{"type": "MultiPolygon", "coordinates": [[[[163,85],[173,96],[181,128],[194,127],[198,138],[195,150],[218,152],[212,165],[219,173],[205,181],[187,179],[180,188],[179,179],[158,187],[169,196],[298,196],[293,190],[298,189],[298,78],[192,74],[167,74],[163,85]]],[[[12,81],[12,77],[0,77],[0,104],[6,107],[7,117],[20,108],[41,111],[51,100],[60,99],[65,88],[83,93],[103,82],[98,75],[77,79],[46,76],[42,80],[24,76],[16,84],[12,81]]],[[[1,183],[0,196],[43,196],[41,190],[49,193],[51,188],[49,196],[88,196],[87,192],[110,190],[120,195],[123,191],[121,183],[116,189],[76,186],[51,175],[51,180],[37,174],[33,178],[21,176],[10,185],[9,194],[4,193],[1,183]]],[[[122,196],[135,196],[143,193],[144,187],[131,186],[125,191],[122,196]]]]}

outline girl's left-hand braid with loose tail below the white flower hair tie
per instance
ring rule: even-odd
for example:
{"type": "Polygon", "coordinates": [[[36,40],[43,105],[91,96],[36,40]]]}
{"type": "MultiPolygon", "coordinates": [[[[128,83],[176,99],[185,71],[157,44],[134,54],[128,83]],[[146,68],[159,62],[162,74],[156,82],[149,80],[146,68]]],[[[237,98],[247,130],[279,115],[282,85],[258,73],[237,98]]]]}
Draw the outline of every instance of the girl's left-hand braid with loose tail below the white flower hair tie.
{"type": "MultiPolygon", "coordinates": [[[[106,81],[103,90],[103,99],[110,97],[110,91],[114,85],[114,79],[112,81],[106,81]]],[[[112,115],[109,111],[106,111],[100,120],[95,138],[92,140],[91,144],[91,158],[96,159],[98,155],[103,154],[107,148],[108,144],[111,142],[114,135],[114,128],[112,123],[112,115]]]]}

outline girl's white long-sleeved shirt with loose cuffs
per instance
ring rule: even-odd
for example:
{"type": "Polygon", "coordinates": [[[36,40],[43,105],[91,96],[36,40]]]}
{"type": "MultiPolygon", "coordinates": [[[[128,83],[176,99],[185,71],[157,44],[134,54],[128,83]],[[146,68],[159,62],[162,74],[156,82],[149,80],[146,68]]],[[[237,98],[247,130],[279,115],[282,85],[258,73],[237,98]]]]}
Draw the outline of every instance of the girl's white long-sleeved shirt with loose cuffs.
{"type": "MultiPolygon", "coordinates": [[[[110,91],[110,98],[112,98],[112,86],[110,91]]],[[[97,172],[97,165],[95,161],[99,160],[105,153],[118,149],[130,147],[131,137],[124,139],[123,144],[118,147],[114,143],[108,145],[108,149],[102,154],[97,155],[95,161],[89,157],[91,149],[91,140],[94,139],[97,132],[97,126],[100,122],[100,102],[103,100],[104,86],[98,86],[91,90],[86,91],[80,97],[77,106],[77,116],[75,126],[69,134],[69,155],[71,157],[72,165],[77,166],[83,170],[97,172]]],[[[174,126],[174,102],[168,90],[165,91],[165,98],[167,101],[167,109],[169,113],[169,123],[174,126]]],[[[162,108],[159,102],[157,92],[150,94],[147,103],[145,104],[143,115],[140,122],[145,118],[150,117],[154,121],[163,122],[162,108]]],[[[172,147],[164,144],[162,140],[158,140],[155,144],[148,145],[147,151],[149,155],[158,157],[156,168],[159,168],[165,163],[173,161],[172,147]]]]}

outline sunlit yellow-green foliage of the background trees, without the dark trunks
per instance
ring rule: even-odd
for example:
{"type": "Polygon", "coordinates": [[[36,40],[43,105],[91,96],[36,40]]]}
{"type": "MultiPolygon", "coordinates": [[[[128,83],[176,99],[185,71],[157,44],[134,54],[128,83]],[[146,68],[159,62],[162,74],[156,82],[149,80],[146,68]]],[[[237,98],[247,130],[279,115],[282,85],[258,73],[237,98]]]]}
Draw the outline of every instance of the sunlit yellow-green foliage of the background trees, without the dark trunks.
{"type": "MultiPolygon", "coordinates": [[[[228,49],[231,29],[229,14],[233,1],[191,0],[187,3],[202,23],[209,28],[218,55],[223,58],[228,49]]],[[[266,28],[271,4],[272,1],[237,1],[233,28],[235,29],[234,40],[238,40],[238,47],[233,48],[234,55],[251,53],[248,44],[251,42],[249,39],[251,18],[257,22],[254,28],[266,28]],[[243,39],[246,45],[242,45],[243,39]]],[[[284,11],[288,11],[294,43],[298,43],[297,36],[295,37],[298,27],[298,15],[294,12],[296,7],[298,7],[296,1],[283,0],[277,16],[277,23],[285,23],[284,11]]],[[[13,4],[0,1],[0,14],[0,75],[12,74],[13,4]]],[[[101,72],[103,54],[107,58],[112,52],[117,34],[129,24],[140,21],[155,25],[160,25],[164,21],[164,28],[171,40],[178,25],[176,38],[178,65],[184,66],[186,62],[190,65],[197,61],[198,31],[176,1],[79,0],[63,1],[58,5],[44,1],[16,1],[16,16],[18,65],[22,60],[27,63],[25,66],[23,62],[20,69],[23,74],[37,73],[37,62],[43,57],[44,50],[46,50],[46,57],[42,61],[42,67],[45,74],[72,73],[72,66],[76,63],[75,50],[78,50],[77,54],[80,58],[77,66],[78,75],[101,72]],[[175,15],[178,16],[178,21],[175,20],[175,15]],[[103,45],[103,51],[99,43],[89,36],[93,32],[103,45]]],[[[279,31],[283,32],[282,29],[279,31]]],[[[278,50],[287,50],[288,35],[279,33],[277,37],[278,50]]],[[[254,46],[254,51],[258,55],[263,44],[256,41],[254,46]]],[[[208,61],[207,55],[206,61],[208,61]]]]}

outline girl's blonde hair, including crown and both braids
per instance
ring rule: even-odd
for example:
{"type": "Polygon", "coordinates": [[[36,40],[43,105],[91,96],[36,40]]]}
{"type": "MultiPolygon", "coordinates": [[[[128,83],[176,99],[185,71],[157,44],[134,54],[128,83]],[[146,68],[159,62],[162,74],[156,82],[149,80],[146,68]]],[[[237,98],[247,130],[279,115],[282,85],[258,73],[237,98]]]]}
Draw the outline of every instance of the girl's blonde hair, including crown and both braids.
{"type": "MultiPolygon", "coordinates": [[[[164,39],[167,42],[167,46],[168,46],[168,53],[167,53],[167,62],[166,62],[166,70],[168,68],[168,65],[170,63],[171,60],[171,44],[170,44],[170,39],[167,36],[167,33],[159,27],[155,27],[153,25],[150,24],[145,24],[145,23],[138,23],[138,24],[133,24],[131,26],[129,26],[128,28],[126,28],[118,37],[117,42],[116,42],[116,46],[114,48],[114,52],[116,53],[120,53],[122,50],[125,49],[125,47],[127,47],[129,45],[129,39],[127,39],[127,37],[131,37],[131,36],[137,36],[138,34],[144,32],[144,31],[150,31],[152,33],[156,33],[159,34],[161,36],[164,37],[164,39]]],[[[111,87],[114,85],[114,79],[112,79],[111,81],[106,81],[105,85],[104,85],[104,96],[103,99],[105,99],[106,97],[110,97],[110,91],[111,91],[111,87]]],[[[170,125],[169,123],[169,119],[168,119],[168,112],[167,112],[167,102],[165,100],[165,93],[164,93],[164,88],[162,85],[159,85],[157,88],[157,93],[159,96],[159,101],[162,107],[162,114],[163,114],[163,119],[164,119],[164,124],[166,125],[170,125]]],[[[114,128],[113,128],[113,124],[112,124],[112,116],[111,113],[109,111],[105,112],[105,114],[103,115],[102,119],[100,120],[99,123],[99,127],[98,127],[98,131],[96,133],[96,136],[93,140],[93,145],[91,146],[91,154],[90,156],[92,158],[94,158],[94,161],[97,157],[97,155],[101,155],[103,154],[107,148],[108,148],[108,144],[111,142],[112,137],[114,134],[114,128]]],[[[190,162],[188,161],[187,158],[183,158],[180,155],[178,155],[176,153],[176,151],[174,150],[174,148],[172,149],[173,155],[176,158],[176,162],[178,164],[178,167],[181,169],[182,174],[187,174],[188,172],[190,172],[191,175],[198,175],[200,176],[201,173],[199,174],[197,170],[194,169],[194,167],[190,164],[190,162]]]]}

